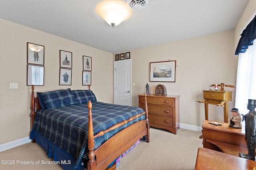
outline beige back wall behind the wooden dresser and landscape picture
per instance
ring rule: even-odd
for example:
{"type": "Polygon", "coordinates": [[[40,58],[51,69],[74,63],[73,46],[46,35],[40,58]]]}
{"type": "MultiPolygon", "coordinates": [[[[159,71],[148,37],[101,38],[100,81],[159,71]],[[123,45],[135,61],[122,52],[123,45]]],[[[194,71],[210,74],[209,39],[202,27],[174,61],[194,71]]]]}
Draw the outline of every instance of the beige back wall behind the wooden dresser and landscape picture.
{"type": "MultiPolygon", "coordinates": [[[[152,94],[156,85],[164,84],[168,95],[180,95],[180,123],[201,127],[204,104],[196,100],[203,99],[202,90],[208,90],[215,83],[235,85],[237,58],[233,47],[234,30],[231,30],[130,51],[135,83],[133,105],[138,106],[138,94],[146,91],[146,83],[152,94]],[[176,60],[176,82],[149,82],[150,62],[169,59],[176,60]]],[[[227,90],[234,91],[233,88],[227,90]]],[[[234,107],[233,101],[231,107],[234,107]]],[[[224,121],[223,107],[209,105],[209,119],[224,121]]]]}

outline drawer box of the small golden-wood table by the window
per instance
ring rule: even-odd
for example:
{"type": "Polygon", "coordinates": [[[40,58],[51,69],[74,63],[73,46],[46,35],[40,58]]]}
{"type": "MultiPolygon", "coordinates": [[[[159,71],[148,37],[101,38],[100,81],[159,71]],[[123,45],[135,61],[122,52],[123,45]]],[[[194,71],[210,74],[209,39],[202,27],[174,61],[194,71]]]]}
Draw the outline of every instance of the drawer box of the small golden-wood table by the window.
{"type": "Polygon", "coordinates": [[[204,91],[204,99],[212,99],[218,101],[231,101],[232,93],[229,91],[204,91]]]}

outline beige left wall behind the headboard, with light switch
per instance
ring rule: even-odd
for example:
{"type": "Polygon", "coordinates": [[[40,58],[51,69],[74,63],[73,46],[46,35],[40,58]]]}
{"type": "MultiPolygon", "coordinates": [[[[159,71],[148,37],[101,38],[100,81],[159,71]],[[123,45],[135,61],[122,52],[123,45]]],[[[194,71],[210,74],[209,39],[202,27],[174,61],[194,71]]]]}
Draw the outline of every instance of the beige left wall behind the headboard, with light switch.
{"type": "Polygon", "coordinates": [[[82,55],[92,57],[92,86],[99,101],[113,103],[113,54],[0,19],[0,144],[29,136],[31,86],[26,86],[27,42],[45,46],[44,86],[35,91],[82,86],[82,55]],[[59,50],[72,52],[72,86],[59,85],[59,50]],[[18,83],[18,89],[10,89],[18,83]],[[104,94],[104,95],[103,95],[104,94]]]}

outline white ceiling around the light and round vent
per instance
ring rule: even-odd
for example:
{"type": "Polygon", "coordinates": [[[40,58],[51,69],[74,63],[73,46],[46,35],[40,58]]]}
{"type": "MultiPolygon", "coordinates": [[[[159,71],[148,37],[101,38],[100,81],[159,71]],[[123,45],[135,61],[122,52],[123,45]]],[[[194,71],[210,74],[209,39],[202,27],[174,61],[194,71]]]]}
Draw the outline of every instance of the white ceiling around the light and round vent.
{"type": "Polygon", "coordinates": [[[0,18],[118,53],[232,30],[248,0],[149,0],[114,28],[96,14],[99,2],[0,0],[0,18]]]}

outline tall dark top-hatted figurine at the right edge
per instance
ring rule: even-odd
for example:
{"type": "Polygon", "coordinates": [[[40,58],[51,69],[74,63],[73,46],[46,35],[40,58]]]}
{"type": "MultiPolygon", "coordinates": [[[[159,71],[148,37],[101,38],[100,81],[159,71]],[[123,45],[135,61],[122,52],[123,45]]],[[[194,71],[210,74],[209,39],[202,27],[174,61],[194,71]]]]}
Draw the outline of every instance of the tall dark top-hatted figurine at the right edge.
{"type": "Polygon", "coordinates": [[[249,112],[244,115],[245,119],[245,140],[247,143],[248,154],[239,153],[239,157],[255,160],[255,144],[256,144],[256,100],[248,99],[247,109],[249,112]]]}

